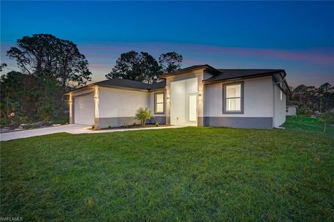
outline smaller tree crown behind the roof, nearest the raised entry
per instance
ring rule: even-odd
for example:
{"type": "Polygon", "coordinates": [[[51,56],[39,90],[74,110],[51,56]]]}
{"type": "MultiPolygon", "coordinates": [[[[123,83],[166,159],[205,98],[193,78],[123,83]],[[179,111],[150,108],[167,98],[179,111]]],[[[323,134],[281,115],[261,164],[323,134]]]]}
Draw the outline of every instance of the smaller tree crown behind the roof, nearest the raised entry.
{"type": "Polygon", "coordinates": [[[159,56],[159,64],[165,73],[175,72],[181,69],[182,55],[170,51],[159,56]]]}

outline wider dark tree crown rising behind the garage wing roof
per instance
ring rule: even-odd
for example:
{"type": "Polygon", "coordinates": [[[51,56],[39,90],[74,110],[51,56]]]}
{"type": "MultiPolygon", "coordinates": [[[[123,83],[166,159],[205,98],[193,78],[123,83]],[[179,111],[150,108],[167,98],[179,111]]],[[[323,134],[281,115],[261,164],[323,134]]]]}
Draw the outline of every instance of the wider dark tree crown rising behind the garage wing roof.
{"type": "Polygon", "coordinates": [[[162,74],[157,61],[147,52],[128,51],[120,55],[115,67],[106,74],[107,79],[120,78],[152,84],[162,74]]]}

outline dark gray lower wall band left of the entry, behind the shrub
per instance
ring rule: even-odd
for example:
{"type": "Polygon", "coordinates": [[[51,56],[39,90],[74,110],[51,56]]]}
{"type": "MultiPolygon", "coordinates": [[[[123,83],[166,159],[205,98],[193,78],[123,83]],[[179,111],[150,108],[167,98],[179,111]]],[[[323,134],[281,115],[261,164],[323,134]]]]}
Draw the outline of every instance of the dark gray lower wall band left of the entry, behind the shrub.
{"type": "MultiPolygon", "coordinates": [[[[95,118],[95,122],[98,122],[99,128],[106,128],[109,125],[112,127],[120,127],[122,125],[133,125],[134,122],[139,124],[139,120],[135,120],[134,116],[130,117],[111,117],[111,118],[95,118]]],[[[155,116],[150,120],[147,120],[146,123],[155,123],[166,124],[166,116],[155,116]]]]}

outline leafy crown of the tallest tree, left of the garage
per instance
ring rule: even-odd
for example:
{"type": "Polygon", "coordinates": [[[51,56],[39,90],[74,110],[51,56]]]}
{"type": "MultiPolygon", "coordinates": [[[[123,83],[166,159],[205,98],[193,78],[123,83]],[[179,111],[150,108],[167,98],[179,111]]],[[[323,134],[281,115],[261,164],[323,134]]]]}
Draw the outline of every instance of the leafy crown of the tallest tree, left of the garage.
{"type": "Polygon", "coordinates": [[[88,61],[77,45],[50,34],[34,34],[17,40],[17,47],[7,51],[9,58],[17,61],[23,74],[37,77],[47,70],[53,79],[61,81],[63,93],[76,84],[90,81],[88,61]]]}

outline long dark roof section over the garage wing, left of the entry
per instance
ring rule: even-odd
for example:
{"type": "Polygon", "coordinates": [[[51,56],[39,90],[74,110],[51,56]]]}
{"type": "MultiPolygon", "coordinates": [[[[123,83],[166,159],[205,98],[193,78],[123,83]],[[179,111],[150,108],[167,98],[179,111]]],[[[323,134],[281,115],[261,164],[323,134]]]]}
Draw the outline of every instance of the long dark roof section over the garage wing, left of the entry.
{"type": "Polygon", "coordinates": [[[141,81],[134,81],[130,79],[106,79],[104,81],[97,81],[94,84],[89,84],[81,88],[70,90],[67,93],[70,93],[75,90],[87,88],[89,86],[107,86],[107,87],[115,86],[115,87],[121,87],[121,88],[134,88],[138,90],[153,90],[153,89],[158,89],[158,88],[164,88],[166,86],[166,81],[160,81],[155,84],[144,84],[141,81]]]}

